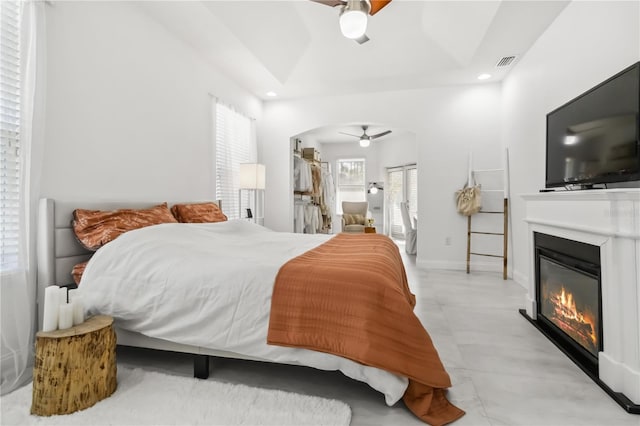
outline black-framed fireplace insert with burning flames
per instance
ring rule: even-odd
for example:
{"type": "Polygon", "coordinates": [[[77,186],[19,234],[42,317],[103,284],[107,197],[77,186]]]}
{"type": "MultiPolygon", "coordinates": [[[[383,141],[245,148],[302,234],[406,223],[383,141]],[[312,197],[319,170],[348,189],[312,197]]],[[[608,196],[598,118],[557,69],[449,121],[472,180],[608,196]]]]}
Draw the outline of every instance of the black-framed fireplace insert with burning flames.
{"type": "Polygon", "coordinates": [[[597,377],[602,351],[600,247],[537,232],[534,244],[539,326],[597,377]]]}

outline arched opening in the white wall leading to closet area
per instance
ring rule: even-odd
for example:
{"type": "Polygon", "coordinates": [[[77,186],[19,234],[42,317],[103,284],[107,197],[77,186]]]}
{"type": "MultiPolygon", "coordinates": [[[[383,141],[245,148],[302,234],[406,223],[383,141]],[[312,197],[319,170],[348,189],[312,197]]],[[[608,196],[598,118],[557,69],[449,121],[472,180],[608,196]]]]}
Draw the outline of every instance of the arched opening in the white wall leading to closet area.
{"type": "MultiPolygon", "coordinates": [[[[343,123],[330,126],[322,126],[298,133],[290,138],[293,159],[291,162],[291,182],[292,182],[292,202],[291,223],[301,232],[301,223],[295,219],[296,211],[300,217],[302,208],[300,205],[317,203],[312,195],[307,191],[302,191],[297,187],[299,171],[294,170],[295,164],[300,160],[309,162],[309,155],[315,154],[319,161],[321,170],[331,176],[333,191],[326,188],[324,201],[320,200],[320,212],[323,220],[330,220],[330,227],[326,227],[328,233],[336,234],[342,232],[343,215],[342,202],[362,202],[368,203],[367,218],[364,232],[375,232],[378,234],[390,235],[391,214],[395,213],[395,223],[399,225],[396,236],[402,238],[404,229],[402,228],[402,215],[399,211],[400,202],[410,203],[412,215],[417,215],[417,142],[416,135],[406,129],[398,128],[389,124],[367,123],[367,134],[379,134],[390,131],[380,138],[373,140],[369,146],[362,147],[359,139],[353,135],[362,133],[361,123],[343,123]],[[360,132],[360,133],[358,133],[360,132]],[[305,159],[305,152],[307,158],[305,159]],[[390,208],[391,200],[388,191],[390,169],[396,168],[414,169],[407,171],[408,178],[404,175],[401,178],[401,188],[413,188],[405,195],[402,189],[395,206],[390,208]],[[346,168],[349,172],[346,173],[346,168]],[[342,176],[339,176],[341,173],[342,176]],[[361,171],[361,172],[360,172],[361,171]],[[342,178],[342,179],[341,179],[342,178]],[[332,197],[329,199],[329,197],[332,197]],[[325,214],[327,212],[327,214],[325,214]]],[[[303,164],[303,163],[300,163],[303,164]]],[[[303,166],[306,167],[306,166],[303,166]]],[[[325,182],[325,180],[322,180],[325,182]]],[[[352,214],[358,214],[357,212],[352,214]]],[[[302,223],[302,229],[306,225],[302,223]]],[[[398,226],[395,226],[398,228],[398,226]]],[[[351,231],[354,231],[352,229],[351,231]]],[[[304,232],[304,231],[302,231],[304,232]]],[[[401,241],[401,240],[397,240],[401,241]]],[[[402,240],[404,241],[404,240],[402,240]]]]}

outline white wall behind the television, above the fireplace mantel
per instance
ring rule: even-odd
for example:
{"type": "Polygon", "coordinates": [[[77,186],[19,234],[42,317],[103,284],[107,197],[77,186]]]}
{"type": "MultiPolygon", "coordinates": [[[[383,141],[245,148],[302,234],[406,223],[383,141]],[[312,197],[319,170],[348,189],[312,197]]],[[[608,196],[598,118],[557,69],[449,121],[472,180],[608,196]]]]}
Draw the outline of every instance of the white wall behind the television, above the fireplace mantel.
{"type": "Polygon", "coordinates": [[[546,114],[640,59],[640,3],[572,2],[503,85],[502,138],[509,147],[514,278],[527,285],[523,200],[545,184],[546,114]]]}

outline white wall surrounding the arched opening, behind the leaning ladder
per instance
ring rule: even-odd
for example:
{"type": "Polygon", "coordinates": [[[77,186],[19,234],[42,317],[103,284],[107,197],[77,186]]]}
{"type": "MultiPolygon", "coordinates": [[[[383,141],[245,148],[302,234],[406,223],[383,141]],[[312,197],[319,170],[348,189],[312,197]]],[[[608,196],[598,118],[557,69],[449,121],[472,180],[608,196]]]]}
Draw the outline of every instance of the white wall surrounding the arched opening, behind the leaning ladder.
{"type": "Polygon", "coordinates": [[[469,150],[479,168],[501,164],[500,92],[483,84],[266,102],[258,127],[267,166],[265,224],[292,228],[291,136],[335,123],[388,123],[416,135],[418,263],[461,268],[466,221],[455,211],[454,192],[466,179],[469,150]]]}

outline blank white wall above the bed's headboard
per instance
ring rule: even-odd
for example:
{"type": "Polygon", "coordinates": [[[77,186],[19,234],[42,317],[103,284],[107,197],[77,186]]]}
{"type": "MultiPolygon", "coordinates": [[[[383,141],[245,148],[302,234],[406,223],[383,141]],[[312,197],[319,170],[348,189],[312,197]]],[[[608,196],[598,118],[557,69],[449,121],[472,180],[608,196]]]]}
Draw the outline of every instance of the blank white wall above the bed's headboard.
{"type": "Polygon", "coordinates": [[[261,101],[133,2],[47,7],[41,194],[211,199],[213,93],[259,118],[261,101]]]}

